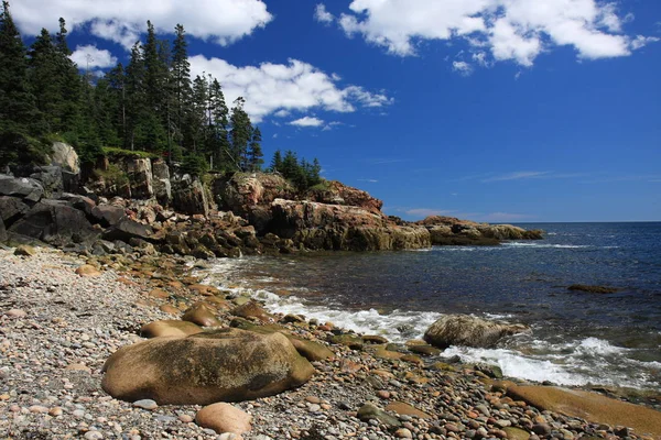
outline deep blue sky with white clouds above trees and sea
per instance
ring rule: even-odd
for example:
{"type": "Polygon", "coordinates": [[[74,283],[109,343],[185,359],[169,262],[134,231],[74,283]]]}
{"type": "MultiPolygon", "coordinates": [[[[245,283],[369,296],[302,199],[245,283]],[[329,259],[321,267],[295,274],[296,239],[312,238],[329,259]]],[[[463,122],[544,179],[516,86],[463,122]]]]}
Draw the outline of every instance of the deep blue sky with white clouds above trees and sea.
{"type": "Polygon", "coordinates": [[[383,211],[489,222],[661,220],[658,0],[13,0],[73,59],[126,63],[177,23],[192,72],[275,150],[383,211]],[[185,6],[184,6],[185,4],[185,6]]]}

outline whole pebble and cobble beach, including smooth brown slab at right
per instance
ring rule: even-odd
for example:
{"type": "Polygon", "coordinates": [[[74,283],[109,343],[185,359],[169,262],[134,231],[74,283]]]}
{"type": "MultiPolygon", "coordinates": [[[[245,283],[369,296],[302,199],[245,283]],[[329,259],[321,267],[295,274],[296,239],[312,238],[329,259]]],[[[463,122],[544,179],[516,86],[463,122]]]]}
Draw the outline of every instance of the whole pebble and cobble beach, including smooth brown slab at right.
{"type": "Polygon", "coordinates": [[[393,345],[332,323],[266,314],[250,298],[201,285],[191,273],[195,264],[139,253],[0,250],[0,437],[661,438],[661,413],[649,407],[505,381],[486,365],[440,362],[438,350],[422,341],[393,345]],[[107,359],[144,341],[143,326],[178,320],[201,304],[217,328],[277,331],[318,350],[314,374],[302,386],[208,407],[234,410],[224,419],[235,420],[235,432],[250,427],[241,437],[219,433],[231,430],[227,425],[203,428],[214,424],[204,421],[201,406],[122,402],[101,388],[107,359]]]}

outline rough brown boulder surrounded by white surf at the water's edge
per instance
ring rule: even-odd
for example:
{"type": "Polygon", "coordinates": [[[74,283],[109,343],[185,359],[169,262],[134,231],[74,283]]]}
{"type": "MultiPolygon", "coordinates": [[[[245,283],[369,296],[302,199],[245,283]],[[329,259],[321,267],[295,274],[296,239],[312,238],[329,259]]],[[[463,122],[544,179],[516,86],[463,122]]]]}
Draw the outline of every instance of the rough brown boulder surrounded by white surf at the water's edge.
{"type": "Polygon", "coordinates": [[[523,324],[487,321],[469,315],[445,315],[424,333],[424,340],[440,349],[449,345],[495,346],[502,338],[529,331],[523,324]]]}

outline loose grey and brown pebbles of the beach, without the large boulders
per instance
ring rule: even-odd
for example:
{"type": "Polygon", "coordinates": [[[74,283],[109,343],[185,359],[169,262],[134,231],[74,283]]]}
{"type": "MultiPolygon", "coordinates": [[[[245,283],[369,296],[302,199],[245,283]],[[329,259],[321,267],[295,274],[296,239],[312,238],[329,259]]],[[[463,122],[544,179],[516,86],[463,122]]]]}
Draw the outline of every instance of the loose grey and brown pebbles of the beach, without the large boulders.
{"type": "MultiPolygon", "coordinates": [[[[85,261],[47,249],[37,249],[33,256],[12,252],[0,250],[0,436],[221,438],[192,421],[198,406],[145,410],[116,400],[100,388],[106,359],[119,346],[143,340],[137,334],[141,326],[176,319],[193,302],[212,297],[205,296],[208,293],[187,274],[188,268],[166,273],[169,267],[178,271],[184,263],[195,264],[193,260],[160,256],[131,262],[112,256],[85,261]],[[85,263],[106,263],[106,271],[77,275],[76,268],[85,263]],[[10,310],[14,310],[11,316],[10,310]]],[[[221,292],[213,295],[225,296],[221,292]]],[[[230,322],[227,309],[219,307],[218,316],[225,326],[230,322]]],[[[281,324],[327,345],[335,355],[314,362],[316,373],[299,388],[234,404],[253,417],[252,430],[243,439],[521,438],[516,436],[537,431],[540,438],[554,433],[608,438],[625,432],[621,427],[534,409],[505,395],[507,386],[479,367],[430,367],[422,356],[380,350],[377,344],[365,343],[360,351],[327,344],[333,331],[342,333],[330,326],[295,320],[281,324]],[[399,422],[395,426],[357,417],[367,403],[392,408],[398,402],[416,410],[400,405],[400,411],[415,416],[398,417],[389,410],[399,422]],[[401,437],[407,435],[411,437],[401,437]]],[[[631,438],[654,438],[626,432],[631,438]]]]}

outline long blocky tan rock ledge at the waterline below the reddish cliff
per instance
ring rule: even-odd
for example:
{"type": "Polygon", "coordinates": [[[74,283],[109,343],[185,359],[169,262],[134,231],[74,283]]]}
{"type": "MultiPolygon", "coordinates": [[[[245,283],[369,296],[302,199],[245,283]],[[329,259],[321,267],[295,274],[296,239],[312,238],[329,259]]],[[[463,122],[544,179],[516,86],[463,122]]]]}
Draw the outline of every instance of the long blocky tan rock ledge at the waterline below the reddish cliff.
{"type": "Polygon", "coordinates": [[[307,249],[384,251],[431,245],[424,227],[399,226],[359,207],[277,199],[271,212],[272,231],[307,249]]]}

